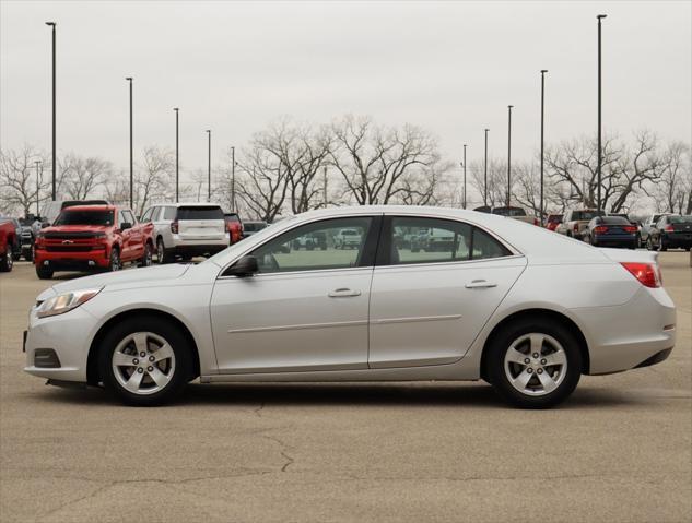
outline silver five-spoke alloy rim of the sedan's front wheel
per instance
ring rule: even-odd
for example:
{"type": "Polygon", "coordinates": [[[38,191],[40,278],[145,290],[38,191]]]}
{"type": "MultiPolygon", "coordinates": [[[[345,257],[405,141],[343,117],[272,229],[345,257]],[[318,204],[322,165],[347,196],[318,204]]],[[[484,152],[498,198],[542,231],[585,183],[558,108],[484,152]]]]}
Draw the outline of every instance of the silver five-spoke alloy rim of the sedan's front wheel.
{"type": "Polygon", "coordinates": [[[128,392],[154,394],[165,389],[173,379],[175,353],[159,334],[133,332],[116,346],[112,369],[118,383],[128,392]]]}

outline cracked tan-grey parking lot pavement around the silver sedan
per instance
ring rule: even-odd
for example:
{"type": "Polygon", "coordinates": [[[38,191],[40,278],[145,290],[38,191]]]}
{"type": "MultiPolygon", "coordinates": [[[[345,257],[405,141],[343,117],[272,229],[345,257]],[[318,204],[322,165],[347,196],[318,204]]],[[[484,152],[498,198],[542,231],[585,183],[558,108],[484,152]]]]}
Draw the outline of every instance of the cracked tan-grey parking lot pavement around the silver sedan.
{"type": "Polygon", "coordinates": [[[0,275],[0,521],[689,522],[692,269],[660,260],[670,358],[539,412],[482,382],[192,384],[160,408],[45,387],[22,331],[55,282],[20,262],[0,275]]]}

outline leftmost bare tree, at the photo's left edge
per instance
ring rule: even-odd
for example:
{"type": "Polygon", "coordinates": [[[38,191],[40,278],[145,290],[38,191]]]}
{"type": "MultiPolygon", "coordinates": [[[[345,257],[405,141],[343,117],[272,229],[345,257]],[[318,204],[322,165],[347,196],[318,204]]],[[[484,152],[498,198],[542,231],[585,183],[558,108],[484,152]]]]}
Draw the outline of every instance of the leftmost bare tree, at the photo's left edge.
{"type": "Polygon", "coordinates": [[[50,182],[44,180],[44,156],[31,145],[0,151],[0,205],[5,212],[28,214],[32,205],[50,197],[50,182]],[[40,162],[38,177],[35,162],[40,162]]]}

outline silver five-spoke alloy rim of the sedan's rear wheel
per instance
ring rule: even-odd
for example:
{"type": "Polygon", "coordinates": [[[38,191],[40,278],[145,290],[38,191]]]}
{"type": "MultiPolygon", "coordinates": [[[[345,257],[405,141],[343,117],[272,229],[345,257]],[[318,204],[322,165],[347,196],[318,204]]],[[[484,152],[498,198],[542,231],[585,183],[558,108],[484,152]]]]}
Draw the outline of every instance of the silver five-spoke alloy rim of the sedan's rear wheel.
{"type": "Polygon", "coordinates": [[[542,396],[558,389],[567,372],[567,355],[548,334],[532,332],[516,338],[505,353],[505,376],[521,394],[542,396]]]}

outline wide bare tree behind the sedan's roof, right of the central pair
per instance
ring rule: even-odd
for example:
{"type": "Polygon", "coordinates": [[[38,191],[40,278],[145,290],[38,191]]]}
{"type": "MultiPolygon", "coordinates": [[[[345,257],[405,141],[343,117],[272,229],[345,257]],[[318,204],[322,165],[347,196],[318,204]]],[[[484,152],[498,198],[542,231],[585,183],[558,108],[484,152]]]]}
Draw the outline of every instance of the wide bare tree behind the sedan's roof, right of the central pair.
{"type": "Polygon", "coordinates": [[[436,140],[414,126],[384,129],[367,117],[347,116],[332,124],[332,132],[330,164],[360,205],[395,201],[407,191],[404,175],[441,162],[436,140]]]}

